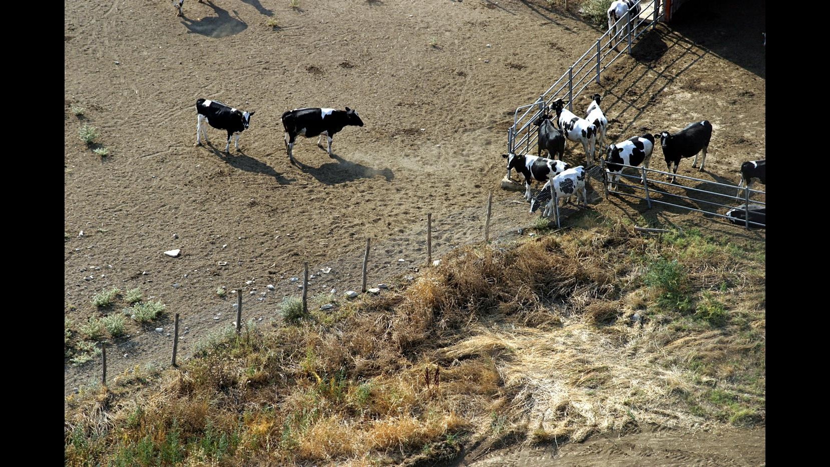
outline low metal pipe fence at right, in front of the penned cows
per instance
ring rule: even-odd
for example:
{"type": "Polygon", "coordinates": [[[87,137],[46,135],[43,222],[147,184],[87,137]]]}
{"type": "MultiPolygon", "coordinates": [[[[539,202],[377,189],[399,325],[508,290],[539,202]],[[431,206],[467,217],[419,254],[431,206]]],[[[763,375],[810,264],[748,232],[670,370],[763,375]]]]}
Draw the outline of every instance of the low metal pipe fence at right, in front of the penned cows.
{"type": "MultiPolygon", "coordinates": [[[[610,176],[608,174],[608,171],[606,170],[608,168],[608,163],[605,160],[602,160],[601,164],[602,164],[602,171],[603,171],[603,185],[604,185],[603,189],[605,190],[605,197],[608,198],[609,193],[612,193],[612,191],[608,189],[608,182],[610,181],[610,176]]],[[[717,187],[725,187],[726,189],[729,190],[729,193],[735,193],[735,190],[738,190],[738,192],[743,192],[744,193],[743,197],[737,197],[734,194],[727,194],[727,193],[722,193],[722,192],[710,192],[708,190],[703,190],[701,188],[682,186],[682,188],[684,190],[691,190],[693,192],[706,193],[707,195],[710,195],[710,196],[721,197],[721,198],[726,198],[726,199],[730,199],[730,200],[740,200],[741,202],[744,202],[744,216],[745,216],[744,219],[739,219],[740,223],[745,224],[747,229],[749,229],[749,224],[752,224],[754,226],[766,227],[766,224],[762,224],[762,223],[755,222],[755,221],[749,221],[749,197],[752,194],[764,195],[764,197],[765,197],[766,192],[762,192],[762,191],[759,191],[759,190],[753,190],[753,189],[748,188],[748,187],[739,187],[738,185],[730,185],[728,183],[712,182],[710,180],[703,180],[702,178],[687,177],[686,175],[676,175],[676,174],[671,173],[671,172],[663,172],[662,170],[657,170],[657,169],[654,169],[654,168],[637,167],[637,166],[632,166],[632,165],[626,165],[626,164],[623,164],[623,163],[615,163],[614,165],[615,166],[622,166],[623,167],[623,172],[625,171],[626,168],[632,168],[632,169],[637,170],[637,172],[640,173],[639,175],[619,173],[618,177],[627,178],[627,179],[636,179],[641,184],[639,184],[639,185],[629,185],[627,183],[621,182],[621,179],[617,179],[617,182],[614,182],[614,185],[616,185],[617,189],[614,190],[613,193],[618,194],[618,195],[627,196],[627,197],[633,197],[633,198],[637,198],[637,199],[641,199],[643,201],[646,201],[648,203],[648,208],[649,209],[652,208],[652,202],[656,202],[658,204],[662,204],[662,205],[665,205],[665,206],[678,207],[680,209],[686,209],[686,210],[689,210],[689,211],[703,212],[703,213],[709,214],[711,216],[723,217],[725,219],[730,219],[730,220],[735,220],[736,219],[735,217],[726,216],[725,214],[720,214],[718,212],[706,211],[704,209],[698,209],[696,207],[683,206],[683,205],[680,205],[680,204],[674,204],[674,203],[671,203],[671,202],[663,201],[663,199],[665,197],[678,197],[678,198],[681,198],[681,199],[684,199],[684,200],[687,200],[687,201],[691,201],[691,202],[696,202],[696,203],[706,203],[706,204],[714,205],[714,206],[717,206],[717,207],[726,207],[728,209],[740,209],[740,207],[730,206],[730,205],[722,204],[720,202],[713,202],[713,201],[709,201],[709,200],[706,200],[706,199],[698,199],[698,198],[693,198],[693,197],[687,197],[687,196],[676,194],[676,193],[656,190],[653,186],[649,187],[649,184],[654,184],[654,183],[662,184],[662,185],[675,186],[675,187],[677,186],[676,184],[671,183],[671,182],[666,182],[666,181],[663,181],[663,180],[657,180],[655,178],[649,178],[649,174],[658,174],[658,175],[661,175],[661,176],[666,176],[667,178],[676,177],[676,178],[681,178],[681,179],[684,179],[684,180],[691,180],[691,181],[694,181],[694,182],[706,183],[707,185],[715,185],[717,187]],[[632,193],[620,192],[620,191],[618,191],[619,187],[629,187],[629,188],[632,188],[632,190],[634,190],[635,192],[637,192],[637,190],[642,190],[642,192],[644,192],[644,194],[645,194],[645,197],[640,197],[640,196],[637,196],[636,194],[632,194],[632,193]],[[656,199],[654,197],[655,194],[661,195],[660,198],[656,199]]],[[[615,174],[615,178],[616,177],[617,177],[617,175],[615,174]]],[[[764,207],[767,204],[766,202],[763,202],[763,201],[752,201],[752,203],[757,204],[759,206],[764,206],[764,207]]]]}

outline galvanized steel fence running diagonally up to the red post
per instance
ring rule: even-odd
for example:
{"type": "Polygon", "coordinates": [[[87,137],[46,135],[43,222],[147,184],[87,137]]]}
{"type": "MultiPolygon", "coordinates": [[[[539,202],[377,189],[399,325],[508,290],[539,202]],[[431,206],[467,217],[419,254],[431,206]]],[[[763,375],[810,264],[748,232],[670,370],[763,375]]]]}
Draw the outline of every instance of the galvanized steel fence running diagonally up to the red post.
{"type": "Polygon", "coordinates": [[[554,100],[567,99],[568,109],[573,112],[574,97],[579,96],[591,83],[588,78],[593,77],[599,84],[599,77],[602,72],[608,69],[608,66],[611,66],[623,53],[631,54],[633,42],[646,33],[649,27],[654,29],[657,22],[665,16],[664,1],[637,2],[641,6],[640,15],[634,18],[626,15],[614,24],[618,36],[611,36],[613,29],[599,36],[595,45],[585,51],[574,62],[574,65],[570,66],[568,71],[565,71],[564,75],[559,77],[559,80],[550,85],[548,90],[545,90],[535,102],[516,108],[513,114],[513,125],[507,129],[507,152],[515,153],[520,150],[523,153],[528,153],[530,151],[531,144],[534,144],[539,138],[539,132],[536,131],[538,127],[533,125],[533,121],[539,118],[544,113],[544,107],[550,105],[554,100]],[[642,6],[644,3],[645,7],[642,6]],[[620,29],[622,29],[622,32],[619,32],[620,29]],[[633,33],[635,30],[637,32],[633,33]],[[617,51],[617,47],[623,43],[625,44],[623,50],[617,51]],[[603,52],[603,47],[606,49],[605,52],[603,52]],[[615,52],[616,55],[609,58],[615,52]],[[582,85],[582,87],[578,88],[579,85],[582,85]],[[574,88],[578,89],[574,91],[574,88]]]}

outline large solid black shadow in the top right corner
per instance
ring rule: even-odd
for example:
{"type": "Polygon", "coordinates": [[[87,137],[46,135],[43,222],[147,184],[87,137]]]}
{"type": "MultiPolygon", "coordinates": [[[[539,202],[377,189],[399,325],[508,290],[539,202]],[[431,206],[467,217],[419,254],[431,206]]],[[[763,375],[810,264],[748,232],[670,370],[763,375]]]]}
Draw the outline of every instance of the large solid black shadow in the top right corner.
{"type": "Polygon", "coordinates": [[[710,53],[766,79],[766,4],[750,0],[689,0],[669,26],[710,53]]]}

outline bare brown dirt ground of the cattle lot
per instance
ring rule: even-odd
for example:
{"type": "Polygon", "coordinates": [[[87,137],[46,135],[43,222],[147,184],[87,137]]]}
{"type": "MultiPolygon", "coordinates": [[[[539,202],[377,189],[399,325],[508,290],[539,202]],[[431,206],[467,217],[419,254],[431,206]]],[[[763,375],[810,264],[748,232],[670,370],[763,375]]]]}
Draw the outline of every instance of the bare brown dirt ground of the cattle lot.
{"type": "MultiPolygon", "coordinates": [[[[284,296],[300,294],[291,278],[301,276],[303,261],[315,275],[310,297],[359,290],[366,238],[370,286],[399,285],[426,260],[427,213],[439,257],[481,240],[491,188],[491,235],[515,238],[537,216],[519,193],[499,188],[513,111],[603,32],[544,0],[330,0],[297,8],[188,0],[183,18],[168,0],[65,7],[65,316],[87,319],[92,295],[113,286],[139,287],[168,311],[149,326],[130,324],[129,336],[115,341],[112,375],[168,362],[174,313],[188,330],[182,358],[230,326],[236,295],[219,297],[219,286],[241,289],[244,319],[262,322],[278,319],[284,296]],[[277,27],[266,25],[270,19],[277,27]],[[223,154],[224,133],[215,129],[208,129],[212,146],[194,147],[200,97],[256,110],[240,151],[223,154]],[[83,118],[72,105],[85,108],[83,118]],[[300,139],[299,164],[291,165],[280,115],[315,106],[349,106],[365,126],[334,137],[334,158],[325,144],[300,139]],[[82,124],[100,129],[110,156],[81,143],[82,124]],[[163,255],[177,248],[180,257],[163,255]],[[319,272],[324,267],[330,274],[319,272]]],[[[604,96],[611,142],[710,120],[706,172],[687,159],[679,173],[735,183],[741,162],[765,158],[765,10],[749,0],[695,0],[684,10],[585,95],[604,96]]],[[[574,110],[587,107],[583,100],[574,110]]],[[[565,160],[580,163],[582,149],[569,144],[565,160]]],[[[657,148],[652,168],[663,167],[657,148]]],[[[695,184],[681,185],[669,190],[692,196],[684,187],[695,184]]],[[[597,180],[589,192],[590,209],[637,225],[764,241],[764,231],[698,212],[606,201],[597,180]]],[[[65,362],[65,394],[98,375],[98,362],[65,362]]]]}

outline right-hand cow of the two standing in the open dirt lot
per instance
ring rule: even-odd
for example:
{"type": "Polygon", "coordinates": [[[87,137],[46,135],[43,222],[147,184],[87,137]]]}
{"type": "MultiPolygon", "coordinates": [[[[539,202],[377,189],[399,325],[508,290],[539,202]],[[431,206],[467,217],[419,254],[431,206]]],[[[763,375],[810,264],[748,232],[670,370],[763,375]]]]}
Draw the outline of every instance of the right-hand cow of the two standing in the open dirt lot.
{"type": "Polygon", "coordinates": [[[281,119],[282,127],[286,129],[286,152],[292,163],[294,162],[294,142],[297,136],[305,136],[305,138],[320,136],[317,139],[317,145],[320,145],[323,135],[327,136],[329,139],[327,151],[329,157],[332,157],[331,139],[334,134],[345,126],[363,126],[363,120],[360,119],[358,113],[349,107],[345,110],[320,109],[320,107],[294,109],[282,114],[281,119]]]}

